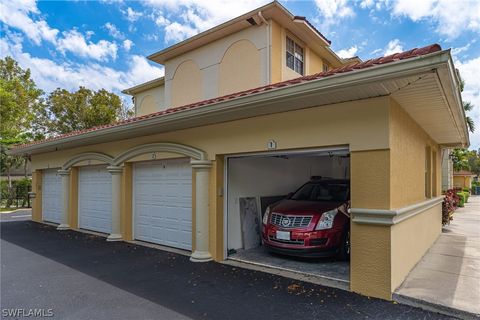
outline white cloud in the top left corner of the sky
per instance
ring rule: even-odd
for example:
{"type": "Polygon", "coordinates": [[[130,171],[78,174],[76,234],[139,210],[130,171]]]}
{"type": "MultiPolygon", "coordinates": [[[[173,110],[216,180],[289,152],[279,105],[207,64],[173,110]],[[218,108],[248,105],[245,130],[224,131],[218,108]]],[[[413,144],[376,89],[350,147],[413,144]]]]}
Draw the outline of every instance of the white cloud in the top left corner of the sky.
{"type": "Polygon", "coordinates": [[[55,43],[59,31],[51,28],[45,20],[33,20],[30,17],[39,13],[37,4],[33,0],[0,2],[0,21],[23,31],[37,45],[42,40],[55,43]]]}

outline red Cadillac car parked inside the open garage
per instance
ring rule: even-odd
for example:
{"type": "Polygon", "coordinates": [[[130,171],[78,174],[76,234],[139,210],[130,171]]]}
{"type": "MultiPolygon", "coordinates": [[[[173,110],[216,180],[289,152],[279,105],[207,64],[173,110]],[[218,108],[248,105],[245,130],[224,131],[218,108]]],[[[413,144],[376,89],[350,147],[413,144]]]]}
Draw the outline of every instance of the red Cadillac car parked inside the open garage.
{"type": "Polygon", "coordinates": [[[262,239],[271,252],[299,257],[350,256],[350,181],[313,178],[267,207],[262,239]]]}

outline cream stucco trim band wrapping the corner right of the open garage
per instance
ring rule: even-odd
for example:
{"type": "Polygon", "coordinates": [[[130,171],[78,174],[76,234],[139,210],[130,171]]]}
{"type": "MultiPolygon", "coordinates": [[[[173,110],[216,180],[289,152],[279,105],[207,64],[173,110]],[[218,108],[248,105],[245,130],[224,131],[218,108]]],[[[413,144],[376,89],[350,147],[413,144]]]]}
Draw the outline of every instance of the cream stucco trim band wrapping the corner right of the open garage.
{"type": "Polygon", "coordinates": [[[420,214],[442,201],[443,197],[436,197],[395,210],[351,208],[350,213],[353,216],[352,221],[358,224],[391,226],[420,214]]]}

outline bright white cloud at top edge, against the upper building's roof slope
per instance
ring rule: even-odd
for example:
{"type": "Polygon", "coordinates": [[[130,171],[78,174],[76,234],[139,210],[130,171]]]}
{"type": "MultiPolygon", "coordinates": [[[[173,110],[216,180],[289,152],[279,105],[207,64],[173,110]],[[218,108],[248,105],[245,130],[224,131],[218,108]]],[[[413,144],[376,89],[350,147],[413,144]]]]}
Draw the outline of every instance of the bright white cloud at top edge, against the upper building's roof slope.
{"type": "Polygon", "coordinates": [[[269,0],[148,0],[165,41],[181,41],[268,3],[269,0]]]}

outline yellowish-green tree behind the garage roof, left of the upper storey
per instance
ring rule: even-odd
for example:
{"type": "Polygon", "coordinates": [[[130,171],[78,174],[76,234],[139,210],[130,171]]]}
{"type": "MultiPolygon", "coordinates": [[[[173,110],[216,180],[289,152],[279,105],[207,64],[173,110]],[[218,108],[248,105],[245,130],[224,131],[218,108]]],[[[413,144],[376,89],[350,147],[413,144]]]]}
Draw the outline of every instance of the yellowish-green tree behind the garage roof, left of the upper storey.
{"type": "Polygon", "coordinates": [[[105,89],[58,88],[48,95],[45,108],[38,110],[36,129],[45,136],[84,130],[131,116],[125,109],[120,97],[105,89]]]}

